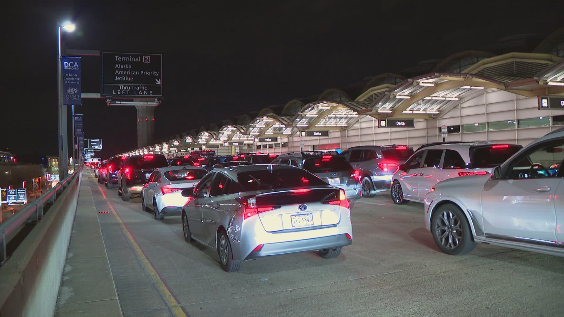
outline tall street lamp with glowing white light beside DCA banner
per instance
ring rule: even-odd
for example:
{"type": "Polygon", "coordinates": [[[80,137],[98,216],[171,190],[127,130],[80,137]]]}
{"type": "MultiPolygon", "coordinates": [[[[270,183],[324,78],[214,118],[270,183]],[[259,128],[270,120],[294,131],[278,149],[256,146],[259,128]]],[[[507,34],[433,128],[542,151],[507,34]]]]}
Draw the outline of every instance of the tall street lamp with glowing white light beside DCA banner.
{"type": "Polygon", "coordinates": [[[63,105],[63,81],[61,69],[61,28],[73,32],[76,27],[72,23],[63,23],[58,27],[57,36],[57,108],[59,109],[59,179],[63,180],[68,174],[68,137],[67,137],[67,106],[63,105]]]}

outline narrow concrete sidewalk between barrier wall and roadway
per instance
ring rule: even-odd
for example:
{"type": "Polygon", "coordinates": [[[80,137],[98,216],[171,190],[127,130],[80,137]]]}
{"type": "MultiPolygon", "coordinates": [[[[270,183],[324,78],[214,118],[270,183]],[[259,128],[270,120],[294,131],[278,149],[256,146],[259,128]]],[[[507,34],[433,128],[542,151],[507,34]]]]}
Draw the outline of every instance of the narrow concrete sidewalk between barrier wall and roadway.
{"type": "Polygon", "coordinates": [[[91,173],[85,171],[55,316],[122,316],[92,197],[92,182],[91,173]]]}

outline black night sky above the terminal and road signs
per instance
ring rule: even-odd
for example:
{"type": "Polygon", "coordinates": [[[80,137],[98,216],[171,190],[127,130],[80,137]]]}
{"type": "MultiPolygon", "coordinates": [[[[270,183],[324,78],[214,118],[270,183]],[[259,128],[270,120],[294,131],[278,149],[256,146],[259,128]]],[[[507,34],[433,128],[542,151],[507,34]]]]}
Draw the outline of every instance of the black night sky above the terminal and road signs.
{"type": "MultiPolygon", "coordinates": [[[[58,151],[58,21],[77,26],[63,34],[68,49],[163,55],[156,139],[421,60],[479,50],[504,36],[546,36],[563,24],[556,10],[561,1],[18,3],[2,5],[0,148],[24,161],[58,151]]],[[[99,93],[100,59],[85,57],[82,63],[82,92],[99,93]]],[[[89,99],[75,112],[84,115],[85,138],[103,139],[103,158],[136,148],[134,107],[89,99]]]]}

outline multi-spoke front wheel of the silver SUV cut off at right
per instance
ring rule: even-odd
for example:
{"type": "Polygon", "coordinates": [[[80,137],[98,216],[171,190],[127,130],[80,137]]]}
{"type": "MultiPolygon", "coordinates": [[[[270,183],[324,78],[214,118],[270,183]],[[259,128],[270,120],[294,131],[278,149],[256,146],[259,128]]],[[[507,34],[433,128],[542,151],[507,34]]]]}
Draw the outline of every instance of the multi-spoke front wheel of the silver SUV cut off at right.
{"type": "Polygon", "coordinates": [[[431,233],[439,249],[452,256],[469,253],[476,246],[470,224],[455,204],[441,205],[433,212],[431,233]]]}

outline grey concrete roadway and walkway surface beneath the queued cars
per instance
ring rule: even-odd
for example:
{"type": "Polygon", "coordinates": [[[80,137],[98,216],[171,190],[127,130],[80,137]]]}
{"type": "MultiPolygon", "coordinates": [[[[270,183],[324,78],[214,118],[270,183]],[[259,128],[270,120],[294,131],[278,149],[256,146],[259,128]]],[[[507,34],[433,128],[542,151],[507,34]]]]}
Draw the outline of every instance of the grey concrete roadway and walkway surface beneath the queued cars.
{"type": "Polygon", "coordinates": [[[336,259],[288,254],[226,273],[217,254],[184,241],[180,217],[155,221],[140,199],[123,202],[92,175],[80,197],[91,195],[96,217],[73,235],[82,226],[94,242],[71,236],[71,247],[102,255],[95,265],[67,259],[70,273],[92,273],[63,275],[58,316],[564,315],[564,258],[482,244],[448,256],[425,230],[423,206],[394,205],[389,192],[356,202],[353,243],[336,259]]]}

